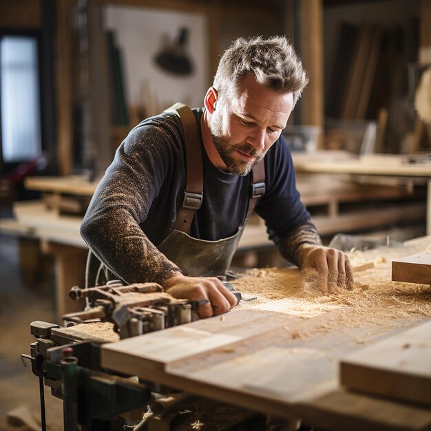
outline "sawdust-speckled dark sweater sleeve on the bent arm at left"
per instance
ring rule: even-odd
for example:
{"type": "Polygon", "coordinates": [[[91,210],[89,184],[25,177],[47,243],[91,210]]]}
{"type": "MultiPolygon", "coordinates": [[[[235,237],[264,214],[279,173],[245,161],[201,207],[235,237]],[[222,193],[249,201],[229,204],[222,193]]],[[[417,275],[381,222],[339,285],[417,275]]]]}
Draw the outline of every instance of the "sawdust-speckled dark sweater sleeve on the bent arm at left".
{"type": "Polygon", "coordinates": [[[180,272],[160,253],[139,223],[180,154],[180,125],[154,121],[135,127],[118,147],[81,224],[93,253],[120,280],[162,283],[180,272]]]}

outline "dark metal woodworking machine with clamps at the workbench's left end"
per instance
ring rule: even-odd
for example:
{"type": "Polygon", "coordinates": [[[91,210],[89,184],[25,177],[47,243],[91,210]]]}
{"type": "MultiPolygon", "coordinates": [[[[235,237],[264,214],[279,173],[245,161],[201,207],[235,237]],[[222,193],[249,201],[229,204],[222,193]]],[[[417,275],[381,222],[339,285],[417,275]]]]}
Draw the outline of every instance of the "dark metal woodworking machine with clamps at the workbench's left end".
{"type": "MultiPolygon", "coordinates": [[[[223,283],[239,302],[241,293],[229,281],[223,283]]],[[[198,307],[207,301],[174,299],[156,283],[123,286],[116,281],[92,288],[74,286],[69,295],[85,297],[85,311],[64,315],[65,326],[32,322],[30,331],[36,341],[30,345],[30,355],[21,355],[39,377],[43,431],[44,385],[63,400],[65,431],[271,429],[265,425],[266,418],[255,412],[101,368],[103,343],[192,322],[198,319],[198,307]],[[224,417],[223,425],[220,421],[211,425],[208,420],[207,412],[214,408],[224,417]]]]}

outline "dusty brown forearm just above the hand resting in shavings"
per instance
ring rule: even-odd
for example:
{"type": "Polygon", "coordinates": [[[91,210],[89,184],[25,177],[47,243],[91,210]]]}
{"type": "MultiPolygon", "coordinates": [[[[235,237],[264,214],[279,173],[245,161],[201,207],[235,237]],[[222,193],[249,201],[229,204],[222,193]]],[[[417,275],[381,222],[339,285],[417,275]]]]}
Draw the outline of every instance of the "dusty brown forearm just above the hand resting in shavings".
{"type": "Polygon", "coordinates": [[[304,250],[312,245],[322,245],[322,239],[311,222],[300,224],[277,244],[280,254],[289,262],[303,266],[304,250]]]}

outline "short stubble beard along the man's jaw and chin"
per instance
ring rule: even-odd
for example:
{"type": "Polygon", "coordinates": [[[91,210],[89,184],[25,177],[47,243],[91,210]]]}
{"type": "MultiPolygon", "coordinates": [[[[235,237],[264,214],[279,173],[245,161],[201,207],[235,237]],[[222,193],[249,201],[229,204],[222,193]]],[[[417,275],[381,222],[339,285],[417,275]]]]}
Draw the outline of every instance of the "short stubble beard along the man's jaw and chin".
{"type": "Polygon", "coordinates": [[[224,165],[226,165],[227,170],[231,174],[237,174],[239,176],[249,175],[251,169],[253,169],[253,167],[264,158],[264,151],[257,151],[257,149],[249,144],[232,145],[229,141],[229,138],[224,136],[222,133],[222,125],[220,120],[221,118],[213,118],[213,123],[209,127],[209,132],[218,154],[220,154],[224,165]],[[236,157],[234,156],[236,151],[241,151],[242,153],[253,157],[255,160],[252,162],[241,160],[238,158],[238,155],[236,157]]]}

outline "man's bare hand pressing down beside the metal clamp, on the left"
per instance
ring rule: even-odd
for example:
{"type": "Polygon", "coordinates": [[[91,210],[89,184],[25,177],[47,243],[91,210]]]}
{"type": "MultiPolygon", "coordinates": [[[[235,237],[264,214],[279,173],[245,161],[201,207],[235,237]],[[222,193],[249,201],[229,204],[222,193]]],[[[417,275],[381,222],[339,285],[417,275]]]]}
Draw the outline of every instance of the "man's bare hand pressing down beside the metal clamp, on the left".
{"type": "Polygon", "coordinates": [[[215,277],[186,277],[176,274],[163,282],[165,292],[178,299],[209,299],[199,308],[199,317],[211,317],[227,313],[238,304],[238,299],[215,277]]]}

